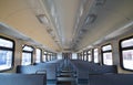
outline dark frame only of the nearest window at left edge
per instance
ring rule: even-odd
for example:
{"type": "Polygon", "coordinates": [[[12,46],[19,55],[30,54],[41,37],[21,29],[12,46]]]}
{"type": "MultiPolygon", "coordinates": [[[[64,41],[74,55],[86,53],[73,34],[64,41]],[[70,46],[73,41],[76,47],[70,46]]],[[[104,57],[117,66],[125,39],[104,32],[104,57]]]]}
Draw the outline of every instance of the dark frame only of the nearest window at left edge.
{"type": "Polygon", "coordinates": [[[7,41],[12,42],[12,49],[0,46],[0,50],[3,50],[3,51],[12,51],[11,67],[6,68],[6,70],[0,70],[0,72],[10,71],[10,70],[12,70],[13,66],[14,66],[14,63],[13,63],[13,62],[14,62],[16,42],[14,42],[14,40],[9,39],[9,38],[7,38],[7,36],[2,36],[2,35],[0,35],[0,39],[3,39],[3,40],[7,40],[7,41]]]}

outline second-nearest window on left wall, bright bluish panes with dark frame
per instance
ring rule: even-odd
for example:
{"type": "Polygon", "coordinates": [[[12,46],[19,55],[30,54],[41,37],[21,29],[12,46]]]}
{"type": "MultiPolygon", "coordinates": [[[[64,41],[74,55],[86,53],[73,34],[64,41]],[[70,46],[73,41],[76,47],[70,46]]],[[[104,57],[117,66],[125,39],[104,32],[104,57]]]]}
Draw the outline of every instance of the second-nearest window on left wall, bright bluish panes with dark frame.
{"type": "Polygon", "coordinates": [[[22,49],[22,65],[30,65],[32,63],[33,47],[24,45],[22,49]]]}

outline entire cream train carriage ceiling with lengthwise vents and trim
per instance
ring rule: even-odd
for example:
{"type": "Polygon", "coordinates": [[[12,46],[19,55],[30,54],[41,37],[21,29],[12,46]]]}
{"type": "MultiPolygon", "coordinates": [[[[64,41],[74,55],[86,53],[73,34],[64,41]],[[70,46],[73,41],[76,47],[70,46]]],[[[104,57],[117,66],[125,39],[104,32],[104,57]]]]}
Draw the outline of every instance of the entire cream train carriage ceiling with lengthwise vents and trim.
{"type": "Polygon", "coordinates": [[[133,24],[132,4],[133,0],[0,0],[0,32],[55,52],[79,51],[126,32],[133,24]]]}

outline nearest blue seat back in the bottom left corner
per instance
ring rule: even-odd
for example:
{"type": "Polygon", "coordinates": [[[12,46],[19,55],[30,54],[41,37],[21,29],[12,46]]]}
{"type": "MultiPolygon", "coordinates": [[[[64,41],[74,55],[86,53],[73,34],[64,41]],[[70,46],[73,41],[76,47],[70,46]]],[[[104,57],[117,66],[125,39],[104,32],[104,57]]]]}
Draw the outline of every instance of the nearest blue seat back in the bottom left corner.
{"type": "Polygon", "coordinates": [[[47,85],[47,75],[0,73],[0,85],[47,85]]]}

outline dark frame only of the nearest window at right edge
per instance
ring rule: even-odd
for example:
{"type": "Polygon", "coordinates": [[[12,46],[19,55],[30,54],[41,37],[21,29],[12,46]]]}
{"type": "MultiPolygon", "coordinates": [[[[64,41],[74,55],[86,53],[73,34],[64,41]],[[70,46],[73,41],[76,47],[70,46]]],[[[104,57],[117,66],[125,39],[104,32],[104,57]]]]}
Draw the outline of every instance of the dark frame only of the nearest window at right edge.
{"type": "Polygon", "coordinates": [[[122,68],[122,70],[133,72],[133,70],[125,68],[125,67],[124,67],[124,63],[123,63],[123,51],[133,50],[133,46],[122,47],[122,44],[121,44],[123,41],[126,41],[126,40],[130,40],[130,39],[133,39],[133,35],[132,35],[132,36],[129,36],[129,38],[124,38],[124,39],[120,40],[120,42],[119,42],[119,49],[120,49],[120,65],[121,65],[121,68],[122,68]]]}

